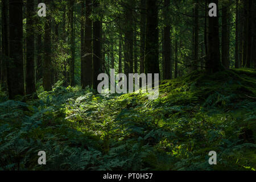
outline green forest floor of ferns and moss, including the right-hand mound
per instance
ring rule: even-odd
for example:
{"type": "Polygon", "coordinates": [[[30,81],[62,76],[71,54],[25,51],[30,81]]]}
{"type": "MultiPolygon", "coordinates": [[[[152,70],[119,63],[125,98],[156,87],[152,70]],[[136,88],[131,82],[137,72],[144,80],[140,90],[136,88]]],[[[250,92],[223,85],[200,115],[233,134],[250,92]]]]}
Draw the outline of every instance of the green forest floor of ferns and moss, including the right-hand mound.
{"type": "Polygon", "coordinates": [[[156,100],[59,85],[27,102],[1,94],[1,170],[256,169],[253,69],[164,80],[156,100]]]}

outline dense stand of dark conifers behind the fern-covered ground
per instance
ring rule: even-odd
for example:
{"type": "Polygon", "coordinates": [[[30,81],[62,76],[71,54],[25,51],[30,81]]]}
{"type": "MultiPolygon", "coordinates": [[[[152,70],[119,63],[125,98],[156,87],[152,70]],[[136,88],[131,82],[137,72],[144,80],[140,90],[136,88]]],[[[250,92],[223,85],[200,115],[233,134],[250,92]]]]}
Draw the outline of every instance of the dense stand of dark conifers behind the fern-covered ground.
{"type": "MultiPolygon", "coordinates": [[[[254,1],[1,2],[1,88],[9,97],[43,85],[97,88],[99,73],[160,73],[255,67],[254,1]],[[217,17],[208,4],[218,5],[217,17]],[[221,64],[222,63],[222,64],[221,64]]],[[[41,88],[42,89],[42,88],[41,88]]]]}

